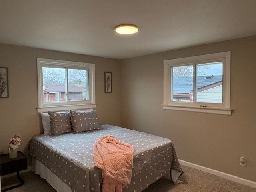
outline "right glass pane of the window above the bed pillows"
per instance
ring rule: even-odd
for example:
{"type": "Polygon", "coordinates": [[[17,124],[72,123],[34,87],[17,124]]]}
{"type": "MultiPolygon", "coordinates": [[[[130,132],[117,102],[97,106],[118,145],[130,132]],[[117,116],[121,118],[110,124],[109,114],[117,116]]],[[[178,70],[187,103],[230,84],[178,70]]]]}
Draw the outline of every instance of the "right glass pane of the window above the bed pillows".
{"type": "Polygon", "coordinates": [[[88,70],[68,69],[68,100],[89,100],[88,90],[88,70]]]}

